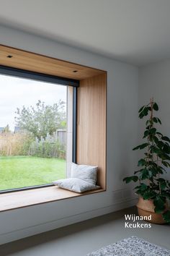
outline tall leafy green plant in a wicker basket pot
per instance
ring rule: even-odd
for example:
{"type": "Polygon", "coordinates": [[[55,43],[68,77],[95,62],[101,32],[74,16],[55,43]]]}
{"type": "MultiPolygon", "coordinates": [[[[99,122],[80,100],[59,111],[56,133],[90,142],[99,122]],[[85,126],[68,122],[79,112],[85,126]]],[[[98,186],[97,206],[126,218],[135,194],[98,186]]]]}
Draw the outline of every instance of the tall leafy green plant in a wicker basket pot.
{"type": "Polygon", "coordinates": [[[170,182],[162,176],[166,168],[170,167],[170,139],[158,132],[156,127],[161,124],[161,120],[153,115],[154,111],[158,111],[158,104],[153,98],[148,105],[142,106],[138,111],[140,119],[146,116],[148,119],[143,135],[145,142],[133,150],[146,152],[143,152],[143,158],[138,161],[139,169],[123,181],[138,182],[135,193],[139,195],[139,216],[151,216],[150,222],[153,223],[170,223],[170,182]]]}

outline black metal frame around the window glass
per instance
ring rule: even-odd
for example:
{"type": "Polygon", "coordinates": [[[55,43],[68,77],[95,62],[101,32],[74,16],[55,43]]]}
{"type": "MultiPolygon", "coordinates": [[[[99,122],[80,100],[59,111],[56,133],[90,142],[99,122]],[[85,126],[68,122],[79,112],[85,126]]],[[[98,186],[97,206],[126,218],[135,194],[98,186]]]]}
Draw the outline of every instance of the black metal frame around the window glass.
{"type": "MultiPolygon", "coordinates": [[[[50,82],[59,85],[72,86],[73,87],[73,137],[72,137],[72,161],[76,163],[76,116],[77,116],[77,88],[79,88],[79,80],[74,80],[66,77],[58,77],[50,74],[42,74],[39,72],[32,72],[24,69],[17,69],[13,67],[6,67],[0,65],[0,74],[5,74],[12,77],[26,78],[29,80],[37,80],[41,82],[50,82]]],[[[31,187],[21,187],[16,189],[4,189],[0,190],[0,194],[9,192],[18,192],[28,189],[39,189],[42,187],[52,187],[51,184],[35,185],[31,187]]]]}

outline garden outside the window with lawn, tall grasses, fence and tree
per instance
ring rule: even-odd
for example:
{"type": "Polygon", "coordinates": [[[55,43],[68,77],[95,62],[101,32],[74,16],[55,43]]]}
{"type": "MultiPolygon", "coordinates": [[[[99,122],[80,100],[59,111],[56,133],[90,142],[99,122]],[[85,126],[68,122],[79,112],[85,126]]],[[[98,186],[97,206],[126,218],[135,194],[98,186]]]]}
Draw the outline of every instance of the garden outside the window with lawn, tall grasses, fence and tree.
{"type": "Polygon", "coordinates": [[[63,102],[17,108],[15,130],[0,132],[0,190],[50,184],[66,177],[63,102]]]}

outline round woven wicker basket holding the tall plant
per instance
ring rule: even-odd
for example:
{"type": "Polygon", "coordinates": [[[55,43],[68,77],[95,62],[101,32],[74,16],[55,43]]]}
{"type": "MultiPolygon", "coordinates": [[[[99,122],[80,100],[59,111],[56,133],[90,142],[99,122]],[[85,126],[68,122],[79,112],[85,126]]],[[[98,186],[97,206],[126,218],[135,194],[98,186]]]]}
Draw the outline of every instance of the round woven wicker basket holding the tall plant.
{"type": "MultiPolygon", "coordinates": [[[[151,216],[151,223],[155,224],[164,224],[166,221],[164,221],[164,218],[161,214],[155,213],[153,205],[153,200],[143,200],[143,197],[139,197],[138,204],[136,205],[138,208],[138,215],[139,216],[151,216]]],[[[166,205],[166,208],[168,208],[168,205],[166,205]]]]}

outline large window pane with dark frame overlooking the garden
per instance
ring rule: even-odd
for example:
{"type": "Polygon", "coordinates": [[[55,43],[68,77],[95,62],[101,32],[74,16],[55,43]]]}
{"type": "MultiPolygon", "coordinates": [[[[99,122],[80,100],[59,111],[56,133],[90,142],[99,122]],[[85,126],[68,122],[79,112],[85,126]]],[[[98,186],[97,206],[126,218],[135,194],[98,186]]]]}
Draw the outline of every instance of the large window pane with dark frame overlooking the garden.
{"type": "Polygon", "coordinates": [[[79,82],[0,68],[0,192],[50,186],[76,161],[79,82]]]}

